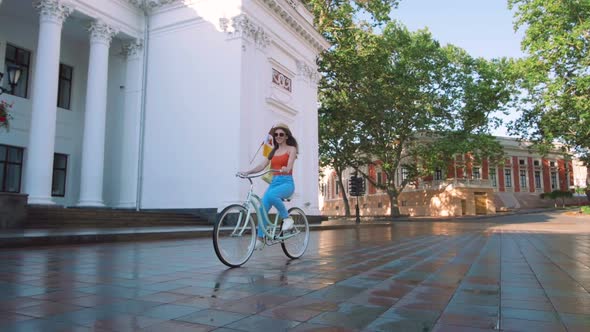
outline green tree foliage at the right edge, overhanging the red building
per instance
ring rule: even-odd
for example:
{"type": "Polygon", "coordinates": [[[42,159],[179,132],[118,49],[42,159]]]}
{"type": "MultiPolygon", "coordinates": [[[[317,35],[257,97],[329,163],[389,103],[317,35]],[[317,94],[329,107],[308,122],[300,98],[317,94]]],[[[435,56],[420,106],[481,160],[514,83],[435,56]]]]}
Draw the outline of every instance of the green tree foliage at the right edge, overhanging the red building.
{"type": "Polygon", "coordinates": [[[541,152],[555,141],[590,151],[590,1],[509,0],[524,28],[517,66],[522,116],[512,130],[541,152]]]}

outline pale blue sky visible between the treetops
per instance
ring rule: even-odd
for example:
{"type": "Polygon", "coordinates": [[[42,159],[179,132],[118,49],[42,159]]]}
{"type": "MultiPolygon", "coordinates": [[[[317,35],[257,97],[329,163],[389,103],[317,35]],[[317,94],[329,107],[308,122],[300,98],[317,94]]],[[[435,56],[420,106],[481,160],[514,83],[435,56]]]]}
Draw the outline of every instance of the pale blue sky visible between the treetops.
{"type": "MultiPolygon", "coordinates": [[[[401,0],[390,16],[411,31],[427,27],[442,45],[461,47],[471,56],[523,56],[520,41],[524,32],[514,31],[507,0],[401,0]]],[[[505,122],[516,117],[512,112],[505,122]]],[[[504,126],[492,134],[510,136],[504,126]]]]}

